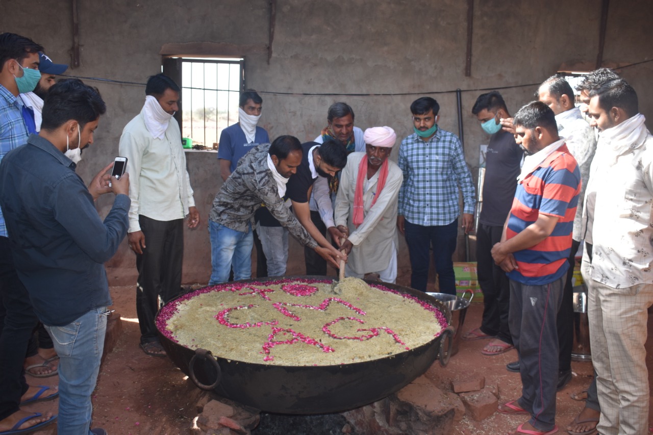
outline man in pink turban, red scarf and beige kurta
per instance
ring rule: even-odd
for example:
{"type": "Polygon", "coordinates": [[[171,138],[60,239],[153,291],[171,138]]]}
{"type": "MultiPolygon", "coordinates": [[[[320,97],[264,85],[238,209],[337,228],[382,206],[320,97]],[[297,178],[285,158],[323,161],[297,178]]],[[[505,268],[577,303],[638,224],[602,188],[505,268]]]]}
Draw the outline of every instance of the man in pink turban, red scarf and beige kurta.
{"type": "Polygon", "coordinates": [[[336,197],[338,230],[348,234],[340,248],[349,261],[345,275],[363,278],[376,273],[383,282],[397,278],[397,202],[402,170],[388,158],[397,136],[390,127],[364,134],[365,152],[347,157],[336,197]]]}

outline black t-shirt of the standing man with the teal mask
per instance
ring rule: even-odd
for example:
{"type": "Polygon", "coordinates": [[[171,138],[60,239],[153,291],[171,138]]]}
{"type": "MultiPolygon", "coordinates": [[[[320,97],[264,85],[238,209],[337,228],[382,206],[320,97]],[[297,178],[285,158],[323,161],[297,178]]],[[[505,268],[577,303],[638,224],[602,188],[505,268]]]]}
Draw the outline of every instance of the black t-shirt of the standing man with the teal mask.
{"type": "Polygon", "coordinates": [[[485,157],[483,207],[479,216],[483,225],[502,227],[505,223],[515,197],[523,155],[511,133],[502,130],[490,137],[485,157]]]}

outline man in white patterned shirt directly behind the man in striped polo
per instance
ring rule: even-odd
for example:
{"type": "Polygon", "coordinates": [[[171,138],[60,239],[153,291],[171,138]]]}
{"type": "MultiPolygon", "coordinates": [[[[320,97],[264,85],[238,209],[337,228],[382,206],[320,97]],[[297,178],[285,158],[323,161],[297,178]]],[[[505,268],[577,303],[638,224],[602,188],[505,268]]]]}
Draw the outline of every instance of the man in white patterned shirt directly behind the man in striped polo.
{"type": "Polygon", "coordinates": [[[560,363],[558,370],[558,390],[571,380],[571,348],[573,347],[573,285],[571,277],[576,264],[576,252],[581,246],[582,202],[587,180],[590,178],[590,164],[596,152],[596,136],[592,127],[582,117],[581,110],[575,106],[575,95],[569,82],[562,76],[547,78],[537,91],[539,101],[549,106],[556,115],[558,134],[565,138],[569,152],[578,162],[581,170],[581,195],[576,208],[569,255],[569,273],[562,294],[562,306],[558,312],[558,343],[560,363]]]}

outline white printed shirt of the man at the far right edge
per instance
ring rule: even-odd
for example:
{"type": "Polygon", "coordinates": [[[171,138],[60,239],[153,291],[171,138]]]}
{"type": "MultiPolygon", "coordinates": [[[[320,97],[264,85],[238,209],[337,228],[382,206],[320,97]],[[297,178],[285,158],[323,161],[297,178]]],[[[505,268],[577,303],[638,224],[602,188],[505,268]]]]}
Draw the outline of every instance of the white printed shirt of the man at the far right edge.
{"type": "Polygon", "coordinates": [[[596,193],[592,280],[653,283],[653,137],[638,114],[599,137],[587,195],[596,193]]]}

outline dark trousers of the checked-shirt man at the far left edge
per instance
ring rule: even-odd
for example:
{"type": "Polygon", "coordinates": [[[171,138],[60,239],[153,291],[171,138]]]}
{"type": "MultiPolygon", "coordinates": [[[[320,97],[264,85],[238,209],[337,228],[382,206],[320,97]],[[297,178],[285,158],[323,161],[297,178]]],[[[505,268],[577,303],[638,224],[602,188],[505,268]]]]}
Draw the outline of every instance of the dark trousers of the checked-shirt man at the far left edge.
{"type": "Polygon", "coordinates": [[[16,274],[11,246],[0,236],[0,420],[18,411],[27,391],[23,362],[27,342],[39,319],[27,289],[16,274]]]}

